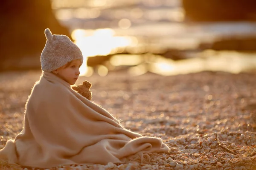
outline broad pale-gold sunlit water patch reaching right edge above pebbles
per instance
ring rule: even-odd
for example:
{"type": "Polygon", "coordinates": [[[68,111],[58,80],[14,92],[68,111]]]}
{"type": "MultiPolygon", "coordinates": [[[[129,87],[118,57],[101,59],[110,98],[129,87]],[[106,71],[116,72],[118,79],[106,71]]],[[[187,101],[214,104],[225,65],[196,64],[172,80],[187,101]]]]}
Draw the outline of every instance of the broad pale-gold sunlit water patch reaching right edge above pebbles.
{"type": "Polygon", "coordinates": [[[256,70],[256,54],[236,51],[207,50],[197,58],[173,61],[160,57],[149,65],[148,71],[163,76],[190,74],[201,71],[225,71],[238,74],[243,71],[256,70]]]}

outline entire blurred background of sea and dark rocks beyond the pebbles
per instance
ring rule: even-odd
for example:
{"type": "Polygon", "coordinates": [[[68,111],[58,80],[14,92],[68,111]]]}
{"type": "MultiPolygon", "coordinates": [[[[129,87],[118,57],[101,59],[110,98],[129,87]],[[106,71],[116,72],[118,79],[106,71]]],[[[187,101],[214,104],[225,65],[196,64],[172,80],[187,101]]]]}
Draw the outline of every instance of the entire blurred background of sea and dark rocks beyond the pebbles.
{"type": "Polygon", "coordinates": [[[45,28],[81,48],[81,76],[256,70],[255,0],[1,0],[0,71],[40,70],[45,28]]]}

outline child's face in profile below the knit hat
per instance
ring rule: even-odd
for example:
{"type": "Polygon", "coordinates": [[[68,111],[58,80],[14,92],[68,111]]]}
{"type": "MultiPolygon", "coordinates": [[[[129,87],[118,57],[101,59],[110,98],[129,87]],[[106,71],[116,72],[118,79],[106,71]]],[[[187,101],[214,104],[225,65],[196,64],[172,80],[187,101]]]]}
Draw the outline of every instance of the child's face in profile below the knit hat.
{"type": "Polygon", "coordinates": [[[67,65],[62,66],[55,70],[58,77],[64,79],[70,85],[74,85],[76,80],[79,77],[80,71],[79,68],[81,66],[80,59],[75,59],[72,62],[68,63],[67,65]]]}

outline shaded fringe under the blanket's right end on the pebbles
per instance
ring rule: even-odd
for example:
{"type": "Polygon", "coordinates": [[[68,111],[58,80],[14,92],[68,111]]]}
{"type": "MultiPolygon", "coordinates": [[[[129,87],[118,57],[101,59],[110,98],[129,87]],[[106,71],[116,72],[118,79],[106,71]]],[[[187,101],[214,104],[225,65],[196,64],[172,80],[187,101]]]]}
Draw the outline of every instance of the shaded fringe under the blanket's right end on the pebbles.
{"type": "Polygon", "coordinates": [[[140,151],[132,156],[129,156],[127,162],[139,162],[140,164],[150,164],[151,161],[155,161],[157,157],[163,157],[158,153],[147,153],[145,151],[140,151]]]}

